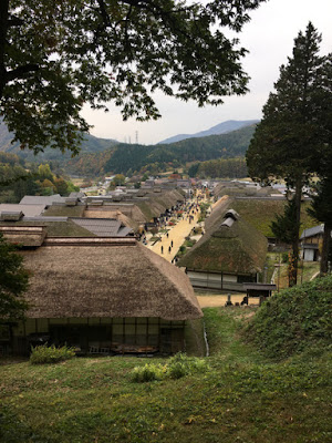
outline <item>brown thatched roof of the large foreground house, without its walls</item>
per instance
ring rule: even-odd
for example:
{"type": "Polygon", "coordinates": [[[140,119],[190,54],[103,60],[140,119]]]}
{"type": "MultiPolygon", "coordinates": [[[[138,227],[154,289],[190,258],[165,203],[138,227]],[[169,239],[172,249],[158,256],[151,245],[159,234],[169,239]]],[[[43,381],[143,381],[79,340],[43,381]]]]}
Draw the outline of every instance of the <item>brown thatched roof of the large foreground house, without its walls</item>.
{"type": "Polygon", "coordinates": [[[48,239],[21,251],[29,318],[203,316],[187,276],[133,238],[48,239]]]}

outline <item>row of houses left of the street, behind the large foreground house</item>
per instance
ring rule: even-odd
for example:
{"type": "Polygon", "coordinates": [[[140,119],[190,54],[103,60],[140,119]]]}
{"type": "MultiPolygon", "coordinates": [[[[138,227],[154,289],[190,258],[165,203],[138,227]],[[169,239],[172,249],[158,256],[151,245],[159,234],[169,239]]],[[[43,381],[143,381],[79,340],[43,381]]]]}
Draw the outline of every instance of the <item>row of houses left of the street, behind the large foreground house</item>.
{"type": "MultiPolygon", "coordinates": [[[[28,225],[45,223],[49,226],[58,222],[59,229],[61,224],[66,223],[68,227],[75,224],[77,227],[72,227],[70,231],[75,231],[76,236],[127,236],[138,235],[160,224],[184,203],[184,193],[176,189],[142,192],[134,197],[127,195],[125,199],[112,196],[86,197],[77,193],[70,197],[25,196],[20,204],[0,204],[0,220],[28,225]]],[[[63,229],[60,229],[61,233],[64,235],[63,229]]]]}

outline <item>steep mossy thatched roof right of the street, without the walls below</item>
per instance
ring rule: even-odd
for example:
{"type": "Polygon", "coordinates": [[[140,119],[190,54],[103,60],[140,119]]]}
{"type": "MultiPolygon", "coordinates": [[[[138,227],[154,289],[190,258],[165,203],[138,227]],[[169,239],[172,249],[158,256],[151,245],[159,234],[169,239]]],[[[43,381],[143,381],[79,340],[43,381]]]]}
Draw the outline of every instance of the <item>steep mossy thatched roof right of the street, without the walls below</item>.
{"type": "Polygon", "coordinates": [[[267,245],[267,239],[240,216],[237,219],[221,216],[218,222],[214,220],[210,229],[178,261],[178,266],[216,272],[256,274],[262,270],[267,245]]]}

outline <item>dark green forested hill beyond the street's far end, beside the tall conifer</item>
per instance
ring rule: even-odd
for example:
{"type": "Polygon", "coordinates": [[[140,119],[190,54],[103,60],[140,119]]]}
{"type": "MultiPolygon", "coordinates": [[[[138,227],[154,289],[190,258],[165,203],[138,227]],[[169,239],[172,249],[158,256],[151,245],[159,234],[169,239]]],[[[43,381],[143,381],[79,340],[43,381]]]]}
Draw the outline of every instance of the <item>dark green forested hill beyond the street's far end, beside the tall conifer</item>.
{"type": "Polygon", "coordinates": [[[165,145],[121,144],[104,166],[105,172],[126,174],[153,164],[179,166],[188,162],[243,156],[256,125],[228,134],[189,138],[165,145]]]}

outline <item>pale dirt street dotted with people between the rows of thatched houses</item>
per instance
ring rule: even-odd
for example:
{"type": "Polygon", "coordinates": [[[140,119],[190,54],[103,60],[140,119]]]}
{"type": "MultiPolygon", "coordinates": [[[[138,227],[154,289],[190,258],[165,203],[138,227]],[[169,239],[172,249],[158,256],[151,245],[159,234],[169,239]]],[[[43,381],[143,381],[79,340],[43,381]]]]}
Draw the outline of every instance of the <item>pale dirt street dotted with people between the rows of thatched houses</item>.
{"type": "MultiPolygon", "coordinates": [[[[190,203],[195,202],[196,198],[193,199],[190,203]]],[[[166,234],[163,234],[162,241],[157,241],[154,246],[148,245],[147,247],[154,253],[158,254],[160,257],[164,257],[167,261],[172,261],[173,258],[176,256],[179,247],[184,243],[185,238],[190,234],[191,229],[195,226],[197,226],[197,220],[199,218],[200,210],[198,209],[195,214],[190,212],[190,215],[194,216],[191,223],[189,223],[187,215],[185,215],[184,213],[185,218],[180,219],[175,226],[167,225],[167,229],[169,229],[168,237],[166,234]],[[172,247],[172,241],[173,241],[173,247],[172,247]],[[163,246],[163,254],[162,254],[162,246],[163,246]]]]}

